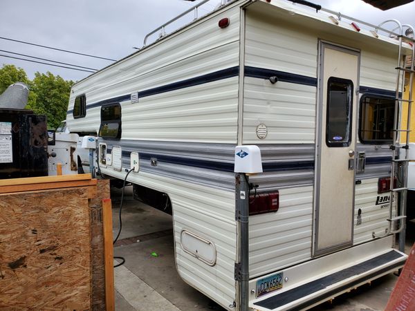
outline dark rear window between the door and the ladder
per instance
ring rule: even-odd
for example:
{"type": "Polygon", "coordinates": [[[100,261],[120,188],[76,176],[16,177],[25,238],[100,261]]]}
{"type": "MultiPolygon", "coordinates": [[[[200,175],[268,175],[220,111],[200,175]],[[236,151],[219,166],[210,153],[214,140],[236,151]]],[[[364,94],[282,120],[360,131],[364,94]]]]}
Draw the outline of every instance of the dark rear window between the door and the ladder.
{"type": "Polygon", "coordinates": [[[390,144],[393,137],[394,114],[394,98],[363,95],[360,99],[360,142],[390,144]]]}

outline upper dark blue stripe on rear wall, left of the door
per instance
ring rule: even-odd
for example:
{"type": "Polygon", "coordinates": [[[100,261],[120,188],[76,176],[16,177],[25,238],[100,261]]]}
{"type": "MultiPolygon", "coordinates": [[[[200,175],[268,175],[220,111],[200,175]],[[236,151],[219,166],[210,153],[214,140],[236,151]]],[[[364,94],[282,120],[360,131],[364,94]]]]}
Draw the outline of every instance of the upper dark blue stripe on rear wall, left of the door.
{"type": "Polygon", "coordinates": [[[269,79],[270,77],[277,77],[278,81],[289,82],[295,84],[303,84],[308,86],[317,86],[317,79],[314,77],[307,77],[305,75],[296,75],[295,73],[286,73],[284,71],[256,68],[256,67],[245,67],[246,77],[255,77],[259,79],[269,79]]]}

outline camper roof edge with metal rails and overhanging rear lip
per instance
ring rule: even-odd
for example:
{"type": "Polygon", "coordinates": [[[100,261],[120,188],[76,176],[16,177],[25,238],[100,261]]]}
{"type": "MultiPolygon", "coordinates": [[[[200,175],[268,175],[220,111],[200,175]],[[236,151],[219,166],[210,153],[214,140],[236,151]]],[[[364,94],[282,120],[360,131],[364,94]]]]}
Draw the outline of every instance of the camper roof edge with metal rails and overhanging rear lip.
{"type": "MultiPolygon", "coordinates": [[[[109,66],[106,66],[98,70],[96,73],[93,73],[88,77],[85,77],[84,79],[75,83],[74,86],[86,79],[89,79],[90,77],[97,75],[98,73],[101,73],[104,70],[108,70],[113,66],[117,66],[118,64],[126,61],[127,59],[130,59],[134,55],[143,53],[145,50],[148,50],[156,44],[160,44],[160,42],[164,41],[169,37],[172,37],[180,32],[186,31],[188,28],[200,23],[204,19],[214,16],[216,15],[216,13],[221,12],[223,10],[227,10],[229,7],[234,6],[240,6],[241,8],[247,8],[248,10],[259,10],[261,14],[277,16],[279,19],[283,19],[288,23],[293,22],[299,23],[300,25],[302,24],[307,28],[318,28],[320,30],[323,30],[324,32],[329,32],[333,35],[341,33],[342,35],[351,37],[356,41],[365,41],[367,44],[371,44],[374,46],[379,45],[382,46],[382,48],[385,48],[386,46],[389,46],[390,48],[398,46],[397,38],[399,36],[403,37],[407,41],[415,42],[414,39],[405,37],[405,35],[403,35],[405,33],[405,29],[411,29],[413,32],[414,28],[410,25],[402,25],[399,21],[395,19],[385,21],[384,23],[381,23],[379,26],[375,26],[371,23],[367,23],[366,21],[361,21],[359,19],[354,19],[353,17],[343,15],[340,12],[335,12],[332,10],[328,10],[326,8],[321,8],[321,6],[318,5],[304,6],[302,4],[293,3],[293,1],[288,0],[221,0],[221,5],[212,10],[212,12],[209,12],[208,14],[203,15],[201,17],[195,16],[196,18],[191,23],[188,23],[187,25],[177,30],[174,30],[174,32],[171,32],[169,34],[165,33],[165,27],[168,26],[169,23],[172,23],[177,19],[184,17],[190,12],[196,12],[199,6],[203,5],[208,1],[210,0],[201,1],[200,3],[196,4],[196,6],[193,6],[189,10],[186,10],[185,12],[181,13],[181,15],[178,15],[174,19],[171,19],[170,21],[167,21],[167,23],[163,23],[163,25],[156,28],[156,30],[160,30],[160,35],[158,39],[156,39],[156,41],[152,42],[149,45],[143,45],[142,48],[140,48],[140,50],[137,50],[131,55],[128,55],[127,57],[118,60],[118,62],[110,64],[109,66]],[[389,27],[391,27],[392,30],[388,30],[387,28],[389,27]],[[398,30],[398,32],[400,33],[396,33],[396,30],[398,30]]],[[[154,35],[156,33],[156,30],[152,30],[151,32],[149,32],[149,34],[146,35],[144,40],[145,44],[147,43],[148,37],[154,35]]],[[[409,52],[412,50],[412,47],[405,42],[403,43],[403,47],[405,48],[403,54],[409,55],[409,52]]]]}

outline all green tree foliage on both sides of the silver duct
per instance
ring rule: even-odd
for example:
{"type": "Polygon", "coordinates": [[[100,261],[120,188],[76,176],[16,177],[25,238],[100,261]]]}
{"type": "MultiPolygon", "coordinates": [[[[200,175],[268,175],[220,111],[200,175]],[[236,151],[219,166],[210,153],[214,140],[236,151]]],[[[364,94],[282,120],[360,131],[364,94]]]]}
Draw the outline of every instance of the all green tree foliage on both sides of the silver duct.
{"type": "Polygon", "coordinates": [[[62,120],[66,119],[73,81],[66,81],[49,71],[37,72],[33,80],[30,80],[24,69],[16,68],[14,65],[3,65],[3,68],[0,68],[0,94],[15,82],[28,84],[30,91],[26,109],[33,110],[39,115],[46,115],[49,128],[56,128],[62,120]]]}

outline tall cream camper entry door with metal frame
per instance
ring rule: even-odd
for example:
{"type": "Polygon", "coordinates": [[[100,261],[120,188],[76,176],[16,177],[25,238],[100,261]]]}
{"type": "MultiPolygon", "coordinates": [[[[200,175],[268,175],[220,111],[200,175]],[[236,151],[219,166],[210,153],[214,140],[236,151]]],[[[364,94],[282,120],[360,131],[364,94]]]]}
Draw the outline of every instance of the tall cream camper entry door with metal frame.
{"type": "Polygon", "coordinates": [[[359,53],[320,43],[314,256],[352,244],[359,53]]]}

